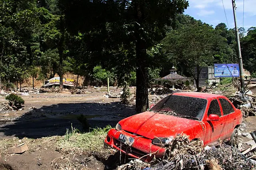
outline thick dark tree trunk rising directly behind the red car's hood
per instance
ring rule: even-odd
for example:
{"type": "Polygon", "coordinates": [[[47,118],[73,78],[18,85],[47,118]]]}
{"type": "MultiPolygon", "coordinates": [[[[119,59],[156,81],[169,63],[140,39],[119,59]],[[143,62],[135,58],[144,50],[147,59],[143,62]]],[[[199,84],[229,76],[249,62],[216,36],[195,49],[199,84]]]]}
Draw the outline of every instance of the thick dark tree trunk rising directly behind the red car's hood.
{"type": "Polygon", "coordinates": [[[146,54],[146,41],[142,38],[143,29],[143,4],[135,1],[136,18],[138,23],[134,25],[136,38],[136,113],[148,109],[148,64],[146,54]]]}

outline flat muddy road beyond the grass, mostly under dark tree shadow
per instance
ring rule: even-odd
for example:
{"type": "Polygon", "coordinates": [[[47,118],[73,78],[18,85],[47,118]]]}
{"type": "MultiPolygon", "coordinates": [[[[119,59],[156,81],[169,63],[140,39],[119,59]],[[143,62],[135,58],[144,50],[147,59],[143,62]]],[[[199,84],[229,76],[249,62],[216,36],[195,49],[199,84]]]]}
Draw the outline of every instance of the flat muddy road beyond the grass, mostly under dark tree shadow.
{"type": "MultiPolygon", "coordinates": [[[[22,111],[1,115],[0,138],[40,138],[64,135],[73,127],[82,131],[78,117],[82,114],[90,127],[114,126],[119,120],[135,113],[134,106],[120,104],[120,98],[106,98],[104,93],[86,95],[32,94],[22,96],[22,111]],[[17,119],[18,118],[18,119],[17,119]],[[13,120],[16,119],[16,120],[13,120]],[[13,121],[10,121],[13,120],[13,121]]],[[[4,102],[0,97],[0,102],[4,102]]]]}

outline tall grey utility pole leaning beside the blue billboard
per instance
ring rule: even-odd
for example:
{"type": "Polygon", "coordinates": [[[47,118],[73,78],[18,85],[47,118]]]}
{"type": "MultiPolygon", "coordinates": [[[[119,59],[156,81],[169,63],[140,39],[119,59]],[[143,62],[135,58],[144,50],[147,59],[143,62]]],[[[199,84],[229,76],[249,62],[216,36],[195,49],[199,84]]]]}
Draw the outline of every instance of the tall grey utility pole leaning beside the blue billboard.
{"type": "Polygon", "coordinates": [[[240,47],[239,32],[238,32],[238,28],[237,28],[237,24],[236,24],[236,4],[235,4],[235,0],[232,0],[232,5],[233,5],[235,29],[236,29],[236,42],[237,42],[237,49],[238,49],[238,63],[239,63],[239,72],[240,72],[240,83],[241,83],[242,90],[244,90],[244,68],[243,68],[243,61],[242,61],[242,54],[241,54],[241,47],[240,47]]]}

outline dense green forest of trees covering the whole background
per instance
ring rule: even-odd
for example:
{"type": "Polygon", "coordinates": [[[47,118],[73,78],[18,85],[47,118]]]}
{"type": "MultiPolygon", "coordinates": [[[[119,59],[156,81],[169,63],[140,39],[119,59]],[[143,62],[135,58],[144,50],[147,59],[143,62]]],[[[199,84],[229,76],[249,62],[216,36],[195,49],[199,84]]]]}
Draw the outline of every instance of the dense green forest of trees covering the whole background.
{"type": "MultiPolygon", "coordinates": [[[[234,29],[195,20],[186,8],[186,0],[0,0],[0,88],[65,72],[97,86],[109,77],[136,85],[136,111],[144,111],[148,83],[172,64],[196,80],[195,67],[238,63],[234,29]]],[[[239,32],[255,77],[256,27],[239,32]]]]}

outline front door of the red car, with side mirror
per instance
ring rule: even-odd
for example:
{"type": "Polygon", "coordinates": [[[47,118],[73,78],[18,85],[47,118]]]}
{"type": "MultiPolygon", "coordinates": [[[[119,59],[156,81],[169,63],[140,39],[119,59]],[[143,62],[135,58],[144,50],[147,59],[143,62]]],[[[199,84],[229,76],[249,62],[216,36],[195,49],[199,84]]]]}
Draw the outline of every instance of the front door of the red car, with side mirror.
{"type": "Polygon", "coordinates": [[[219,142],[219,139],[222,138],[221,134],[224,131],[222,114],[217,99],[214,99],[210,102],[208,111],[206,113],[206,119],[210,114],[215,114],[220,117],[218,121],[204,121],[204,125],[206,127],[204,144],[207,145],[211,143],[215,145],[219,142]]]}

